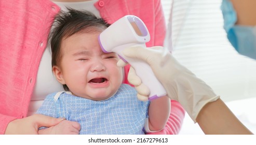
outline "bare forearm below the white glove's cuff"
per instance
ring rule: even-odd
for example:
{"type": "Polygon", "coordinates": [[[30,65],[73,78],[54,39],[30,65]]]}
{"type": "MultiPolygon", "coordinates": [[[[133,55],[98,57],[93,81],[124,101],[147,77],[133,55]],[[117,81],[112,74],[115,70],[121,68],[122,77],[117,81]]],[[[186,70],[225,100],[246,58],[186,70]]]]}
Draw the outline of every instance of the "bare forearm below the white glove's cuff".
{"type": "Polygon", "coordinates": [[[196,121],[205,134],[252,134],[221,99],[206,104],[196,121]]]}

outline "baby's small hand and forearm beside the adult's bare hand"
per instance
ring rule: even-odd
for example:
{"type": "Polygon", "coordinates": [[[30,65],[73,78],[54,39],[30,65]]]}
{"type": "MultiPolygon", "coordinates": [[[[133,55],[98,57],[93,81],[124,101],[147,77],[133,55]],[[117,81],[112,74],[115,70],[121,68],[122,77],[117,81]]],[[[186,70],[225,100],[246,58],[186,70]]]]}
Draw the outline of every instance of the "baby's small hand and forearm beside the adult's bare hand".
{"type": "Polygon", "coordinates": [[[78,135],[80,124],[74,121],[63,120],[56,126],[38,130],[41,135],[78,135]]]}

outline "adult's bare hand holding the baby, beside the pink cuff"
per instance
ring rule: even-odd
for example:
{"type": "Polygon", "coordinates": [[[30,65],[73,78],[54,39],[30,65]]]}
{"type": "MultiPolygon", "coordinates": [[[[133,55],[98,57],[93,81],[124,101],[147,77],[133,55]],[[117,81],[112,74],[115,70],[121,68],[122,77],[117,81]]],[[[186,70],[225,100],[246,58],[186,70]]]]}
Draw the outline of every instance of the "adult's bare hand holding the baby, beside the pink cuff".
{"type": "Polygon", "coordinates": [[[34,114],[23,119],[11,121],[5,130],[5,134],[12,135],[32,135],[38,134],[38,128],[42,126],[50,127],[60,123],[63,118],[52,118],[42,114],[34,114]]]}

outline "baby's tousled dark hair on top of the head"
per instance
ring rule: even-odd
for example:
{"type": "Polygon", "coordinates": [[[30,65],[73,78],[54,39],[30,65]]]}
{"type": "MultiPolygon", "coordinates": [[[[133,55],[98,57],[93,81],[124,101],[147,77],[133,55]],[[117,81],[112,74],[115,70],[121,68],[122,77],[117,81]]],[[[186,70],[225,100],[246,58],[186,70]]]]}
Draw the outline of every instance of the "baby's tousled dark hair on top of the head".
{"type": "MultiPolygon", "coordinates": [[[[48,42],[51,47],[51,66],[59,66],[62,59],[61,42],[77,33],[91,33],[104,30],[109,27],[102,18],[86,10],[75,10],[67,8],[68,11],[61,11],[55,17],[53,28],[49,34],[48,42]]],[[[69,91],[66,84],[63,84],[65,91],[69,91]]]]}

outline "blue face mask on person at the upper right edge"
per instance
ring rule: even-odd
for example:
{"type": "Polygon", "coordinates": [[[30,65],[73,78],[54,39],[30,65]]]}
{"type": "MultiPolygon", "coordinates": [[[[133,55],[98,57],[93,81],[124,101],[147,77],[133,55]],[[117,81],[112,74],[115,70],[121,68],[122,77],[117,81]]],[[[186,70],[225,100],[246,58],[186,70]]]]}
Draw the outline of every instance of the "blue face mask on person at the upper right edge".
{"type": "Polygon", "coordinates": [[[228,0],[222,1],[221,10],[228,40],[238,53],[256,59],[256,26],[235,25],[236,11],[228,0]]]}

